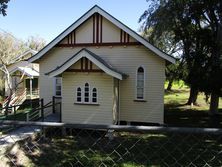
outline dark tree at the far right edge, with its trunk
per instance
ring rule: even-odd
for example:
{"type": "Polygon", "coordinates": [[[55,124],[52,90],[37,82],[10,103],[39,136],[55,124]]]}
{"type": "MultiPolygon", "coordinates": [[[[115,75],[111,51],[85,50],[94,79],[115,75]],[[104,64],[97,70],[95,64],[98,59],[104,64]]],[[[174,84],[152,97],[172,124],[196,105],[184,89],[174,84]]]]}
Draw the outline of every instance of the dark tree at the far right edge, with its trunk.
{"type": "Polygon", "coordinates": [[[207,40],[211,54],[206,62],[206,79],[209,82],[202,89],[211,93],[210,111],[214,115],[218,111],[219,96],[222,96],[222,1],[206,0],[199,6],[199,13],[205,21],[204,28],[211,37],[207,40]]]}

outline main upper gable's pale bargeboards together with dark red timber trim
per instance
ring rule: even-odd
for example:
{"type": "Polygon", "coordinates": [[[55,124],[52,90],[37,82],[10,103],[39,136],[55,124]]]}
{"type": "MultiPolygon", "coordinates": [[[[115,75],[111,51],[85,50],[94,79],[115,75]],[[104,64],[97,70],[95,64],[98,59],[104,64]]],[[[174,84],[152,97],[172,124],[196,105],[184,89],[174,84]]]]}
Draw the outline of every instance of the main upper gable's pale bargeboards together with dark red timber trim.
{"type": "Polygon", "coordinates": [[[155,46],[151,45],[146,39],[138,35],[135,31],[121,23],[119,20],[108,14],[106,11],[95,5],[70,27],[58,35],[53,41],[51,41],[46,47],[39,51],[36,55],[29,59],[29,62],[34,62],[44,56],[53,47],[75,47],[75,46],[116,46],[116,45],[144,45],[149,50],[153,51],[163,59],[175,63],[175,58],[162,52],[155,46]],[[93,38],[89,43],[77,43],[76,42],[76,29],[92,17],[93,19],[93,38]],[[120,29],[119,42],[104,42],[103,41],[103,19],[107,19],[120,29]],[[130,41],[130,36],[136,40],[130,41]],[[67,37],[67,42],[61,44],[61,41],[67,37]]]}

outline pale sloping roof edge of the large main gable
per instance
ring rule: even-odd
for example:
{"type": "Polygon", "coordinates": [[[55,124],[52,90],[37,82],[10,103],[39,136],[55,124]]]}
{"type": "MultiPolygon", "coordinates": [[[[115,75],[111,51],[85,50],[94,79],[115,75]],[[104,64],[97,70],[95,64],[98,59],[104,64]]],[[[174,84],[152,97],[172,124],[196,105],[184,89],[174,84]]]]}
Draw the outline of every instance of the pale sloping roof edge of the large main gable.
{"type": "Polygon", "coordinates": [[[80,17],[76,22],[74,22],[71,26],[69,26],[65,31],[63,31],[60,35],[58,35],[54,40],[52,40],[47,46],[45,46],[41,51],[39,51],[36,55],[32,56],[28,61],[33,62],[35,60],[40,59],[45,53],[47,53],[51,48],[53,48],[56,44],[58,44],[61,40],[63,40],[69,33],[75,30],[78,26],[80,26],[83,22],[85,22],[88,18],[90,18],[93,14],[99,13],[104,18],[112,22],[114,25],[119,27],[120,29],[127,32],[133,38],[135,38],[138,42],[142,43],[145,47],[156,53],[158,56],[163,59],[175,63],[175,58],[162,52],[155,46],[151,45],[146,39],[141,37],[135,31],[121,23],[119,20],[111,16],[109,13],[101,9],[99,6],[95,5],[88,12],[86,12],[82,17],[80,17]]]}

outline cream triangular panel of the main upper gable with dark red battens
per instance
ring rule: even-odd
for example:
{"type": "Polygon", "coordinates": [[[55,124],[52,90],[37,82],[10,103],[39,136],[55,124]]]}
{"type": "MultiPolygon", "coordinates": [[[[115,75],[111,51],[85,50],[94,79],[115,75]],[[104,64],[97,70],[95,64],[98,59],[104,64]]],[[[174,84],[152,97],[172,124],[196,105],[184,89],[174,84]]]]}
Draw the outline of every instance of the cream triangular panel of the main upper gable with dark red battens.
{"type": "Polygon", "coordinates": [[[94,15],[72,31],[59,44],[137,42],[101,15],[94,15]]]}

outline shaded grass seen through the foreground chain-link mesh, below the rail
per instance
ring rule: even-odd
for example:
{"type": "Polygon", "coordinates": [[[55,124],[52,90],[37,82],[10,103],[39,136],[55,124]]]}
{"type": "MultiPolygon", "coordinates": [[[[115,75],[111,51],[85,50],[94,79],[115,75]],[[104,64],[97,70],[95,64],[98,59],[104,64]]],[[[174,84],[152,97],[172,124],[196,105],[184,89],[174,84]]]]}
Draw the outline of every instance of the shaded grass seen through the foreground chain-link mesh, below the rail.
{"type": "Polygon", "coordinates": [[[106,132],[73,129],[72,135],[62,136],[51,128],[45,137],[18,142],[17,153],[8,157],[29,167],[222,165],[221,137],[216,135],[115,132],[109,140],[106,132]]]}

